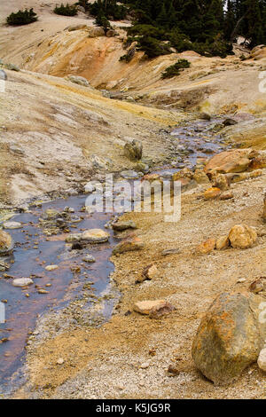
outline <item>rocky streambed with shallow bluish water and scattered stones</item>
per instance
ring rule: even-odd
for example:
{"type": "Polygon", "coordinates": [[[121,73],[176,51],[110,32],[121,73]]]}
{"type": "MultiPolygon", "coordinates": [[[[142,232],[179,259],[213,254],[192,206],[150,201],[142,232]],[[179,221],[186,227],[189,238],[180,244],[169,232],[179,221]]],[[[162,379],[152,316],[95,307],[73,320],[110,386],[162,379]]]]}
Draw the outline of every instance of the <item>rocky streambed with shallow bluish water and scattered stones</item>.
{"type": "MultiPolygon", "coordinates": [[[[176,159],[153,173],[172,177],[176,171],[195,169],[211,154],[221,152],[224,141],[219,131],[223,121],[224,118],[201,120],[172,131],[176,159]]],[[[131,181],[143,175],[135,171],[123,173],[131,181]]],[[[120,297],[110,284],[113,264],[109,258],[125,232],[117,234],[109,227],[114,213],[89,214],[84,209],[87,196],[33,201],[25,212],[17,213],[11,223],[5,224],[15,246],[12,255],[1,257],[0,264],[0,300],[5,306],[5,323],[0,324],[1,394],[24,381],[26,351],[33,338],[42,342],[45,337],[45,331],[35,331],[36,320],[40,322],[47,315],[58,317],[50,328],[52,334],[70,324],[99,326],[111,317],[120,297]],[[67,240],[69,234],[105,230],[105,226],[107,241],[80,245],[67,240]],[[26,278],[29,280],[23,281],[26,278]]]]}

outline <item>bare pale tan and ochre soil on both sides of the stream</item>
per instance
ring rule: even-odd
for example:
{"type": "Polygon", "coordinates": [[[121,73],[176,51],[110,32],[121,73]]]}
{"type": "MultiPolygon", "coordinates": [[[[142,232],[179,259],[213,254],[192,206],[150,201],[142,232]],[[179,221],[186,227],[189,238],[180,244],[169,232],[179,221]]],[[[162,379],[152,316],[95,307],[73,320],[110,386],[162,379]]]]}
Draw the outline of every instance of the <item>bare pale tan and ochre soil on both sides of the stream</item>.
{"type": "MultiPolygon", "coordinates": [[[[4,2],[3,16],[17,4],[4,2]]],[[[20,73],[7,71],[6,92],[0,95],[3,207],[85,184],[97,175],[90,163],[94,154],[107,169],[132,168],[122,153],[127,137],[140,139],[145,156],[155,165],[162,161],[169,149],[159,130],[188,117],[175,110],[176,91],[184,110],[248,111],[258,116],[258,121],[226,132],[246,146],[265,149],[266,102],[258,90],[258,75],[265,66],[262,61],[241,63],[236,57],[204,59],[191,54],[191,69],[178,80],[162,82],[160,72],[176,60],[176,54],[146,62],[137,53],[129,67],[121,66],[117,60],[123,51],[122,31],[121,39],[88,40],[88,34],[64,28],[83,21],[92,26],[92,20],[84,20],[82,15],[58,19],[51,8],[36,4],[20,2],[20,6],[35,6],[39,22],[28,28],[0,28],[0,58],[24,68],[20,73]],[[92,88],[57,78],[67,74],[87,76],[92,88]],[[93,89],[117,81],[118,90],[147,93],[144,101],[149,106],[110,100],[93,89]],[[12,153],[12,145],[20,146],[25,154],[12,153]]],[[[33,337],[28,346],[28,381],[14,397],[264,398],[265,376],[256,364],[230,386],[215,387],[196,370],[191,347],[200,318],[217,295],[243,291],[265,275],[266,236],[261,219],[265,184],[264,169],[262,177],[231,186],[233,201],[204,201],[198,198],[200,187],[184,193],[182,219],[175,225],[165,223],[161,214],[125,216],[136,221],[145,249],[113,257],[111,282],[122,295],[113,318],[100,328],[59,330],[52,317],[47,316],[44,324],[40,321],[37,329],[42,333],[46,327],[46,333],[41,339],[33,337]],[[223,235],[239,223],[262,232],[254,248],[195,254],[200,242],[223,235]],[[165,248],[180,248],[181,252],[161,256],[165,248]],[[136,285],[143,268],[151,263],[159,269],[158,278],[136,285]],[[246,281],[239,284],[239,279],[246,281]],[[174,304],[176,311],[160,320],[135,312],[125,315],[136,301],[159,298],[174,304]],[[57,365],[59,358],[64,358],[63,365],[57,365]],[[173,363],[180,370],[176,376],[167,372],[173,363]]]]}

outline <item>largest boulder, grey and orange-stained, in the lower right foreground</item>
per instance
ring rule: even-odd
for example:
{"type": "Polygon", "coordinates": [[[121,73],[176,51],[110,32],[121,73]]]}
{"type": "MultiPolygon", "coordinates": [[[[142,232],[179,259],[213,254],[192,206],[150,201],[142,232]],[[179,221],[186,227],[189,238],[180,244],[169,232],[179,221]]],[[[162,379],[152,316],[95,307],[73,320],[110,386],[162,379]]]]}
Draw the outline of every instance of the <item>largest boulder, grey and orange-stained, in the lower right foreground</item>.
{"type": "Polygon", "coordinates": [[[217,385],[234,381],[262,349],[258,295],[223,293],[210,306],[192,343],[192,358],[217,385]]]}

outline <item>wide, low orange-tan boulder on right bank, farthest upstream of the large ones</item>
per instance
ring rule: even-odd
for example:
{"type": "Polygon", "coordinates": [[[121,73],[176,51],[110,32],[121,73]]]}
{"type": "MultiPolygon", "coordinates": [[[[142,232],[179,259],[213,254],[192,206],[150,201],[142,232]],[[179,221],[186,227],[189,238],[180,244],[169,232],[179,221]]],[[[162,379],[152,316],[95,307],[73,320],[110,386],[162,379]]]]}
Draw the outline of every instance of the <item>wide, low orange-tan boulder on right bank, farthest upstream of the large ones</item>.
{"type": "Polygon", "coordinates": [[[228,174],[230,172],[243,172],[248,169],[250,161],[257,156],[251,149],[231,149],[218,153],[207,162],[205,172],[228,174]]]}

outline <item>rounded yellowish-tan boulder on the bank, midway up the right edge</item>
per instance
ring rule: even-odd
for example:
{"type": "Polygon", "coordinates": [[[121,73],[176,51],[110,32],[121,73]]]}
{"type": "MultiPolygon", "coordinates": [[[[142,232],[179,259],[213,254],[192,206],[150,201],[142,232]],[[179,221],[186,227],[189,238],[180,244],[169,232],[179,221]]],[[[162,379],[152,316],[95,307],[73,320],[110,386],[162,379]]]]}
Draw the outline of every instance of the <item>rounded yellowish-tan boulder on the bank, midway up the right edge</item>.
{"type": "Polygon", "coordinates": [[[257,233],[253,227],[246,224],[236,224],[231,228],[229,240],[232,248],[251,248],[257,240],[257,233]]]}

